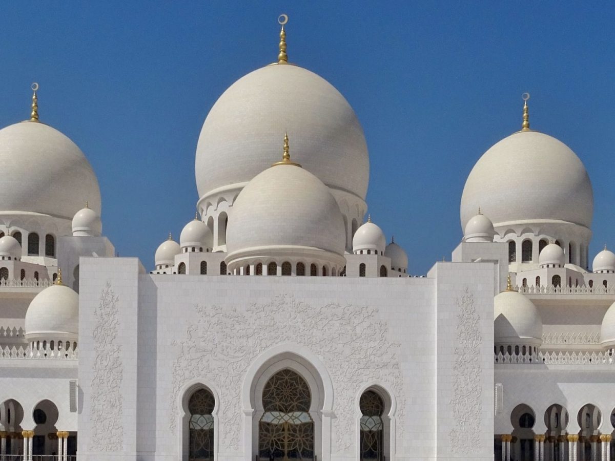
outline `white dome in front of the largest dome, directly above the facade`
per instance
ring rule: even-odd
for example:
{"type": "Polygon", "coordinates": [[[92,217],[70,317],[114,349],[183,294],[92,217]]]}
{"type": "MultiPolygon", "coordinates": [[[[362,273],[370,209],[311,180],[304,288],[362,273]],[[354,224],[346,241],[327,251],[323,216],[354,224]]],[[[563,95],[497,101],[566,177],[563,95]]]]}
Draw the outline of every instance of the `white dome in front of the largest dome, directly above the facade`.
{"type": "Polygon", "coordinates": [[[226,261],[243,258],[320,258],[344,264],[344,219],[325,184],[294,165],[256,175],[229,212],[226,261]]]}

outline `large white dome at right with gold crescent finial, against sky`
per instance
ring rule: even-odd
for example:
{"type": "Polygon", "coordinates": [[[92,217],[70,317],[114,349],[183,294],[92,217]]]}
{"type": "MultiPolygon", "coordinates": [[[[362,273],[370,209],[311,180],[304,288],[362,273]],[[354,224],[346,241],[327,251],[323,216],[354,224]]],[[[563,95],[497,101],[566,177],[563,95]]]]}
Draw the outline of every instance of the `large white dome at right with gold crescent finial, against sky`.
{"type": "Polygon", "coordinates": [[[587,171],[566,144],[539,132],[517,132],[480,157],[461,197],[461,226],[478,207],[494,226],[566,221],[590,229],[593,192],[587,171]]]}

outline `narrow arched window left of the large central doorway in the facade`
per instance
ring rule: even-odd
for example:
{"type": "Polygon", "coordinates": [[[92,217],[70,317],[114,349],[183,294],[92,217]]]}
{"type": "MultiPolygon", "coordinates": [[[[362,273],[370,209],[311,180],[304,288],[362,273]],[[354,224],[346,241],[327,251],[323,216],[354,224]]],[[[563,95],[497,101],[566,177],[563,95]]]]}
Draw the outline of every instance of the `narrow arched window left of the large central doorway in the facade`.
{"type": "Polygon", "coordinates": [[[188,459],[213,461],[213,394],[207,389],[196,390],[188,401],[188,459]]]}

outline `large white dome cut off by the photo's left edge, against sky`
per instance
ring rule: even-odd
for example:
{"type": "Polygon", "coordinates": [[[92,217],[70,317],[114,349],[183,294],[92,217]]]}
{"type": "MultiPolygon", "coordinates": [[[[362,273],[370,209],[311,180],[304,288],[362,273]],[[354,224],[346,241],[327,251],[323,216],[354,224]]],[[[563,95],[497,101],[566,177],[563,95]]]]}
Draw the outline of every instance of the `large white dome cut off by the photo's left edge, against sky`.
{"type": "Polygon", "coordinates": [[[87,200],[100,216],[98,181],[83,152],[49,125],[21,122],[0,130],[0,212],[73,219],[87,200]]]}

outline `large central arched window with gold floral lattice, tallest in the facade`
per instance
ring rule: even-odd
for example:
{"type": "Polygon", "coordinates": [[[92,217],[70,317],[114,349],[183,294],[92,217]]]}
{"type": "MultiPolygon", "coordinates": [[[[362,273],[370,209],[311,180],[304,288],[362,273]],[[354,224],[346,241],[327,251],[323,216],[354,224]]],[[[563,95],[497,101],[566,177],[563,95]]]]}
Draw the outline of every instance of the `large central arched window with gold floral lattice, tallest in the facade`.
{"type": "Polygon", "coordinates": [[[292,369],[282,369],[263,388],[258,422],[258,459],[314,459],[314,421],[308,384],[292,369]]]}

